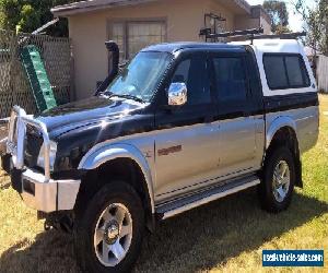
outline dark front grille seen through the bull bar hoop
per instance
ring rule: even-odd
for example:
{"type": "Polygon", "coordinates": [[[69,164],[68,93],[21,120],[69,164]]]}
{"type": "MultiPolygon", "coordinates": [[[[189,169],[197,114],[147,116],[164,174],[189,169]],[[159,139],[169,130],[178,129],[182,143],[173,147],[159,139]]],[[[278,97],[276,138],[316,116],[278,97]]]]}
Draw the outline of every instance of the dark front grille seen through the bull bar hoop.
{"type": "Polygon", "coordinates": [[[26,126],[24,164],[28,168],[37,166],[37,157],[43,145],[42,133],[32,126],[26,126]]]}

